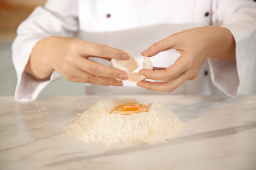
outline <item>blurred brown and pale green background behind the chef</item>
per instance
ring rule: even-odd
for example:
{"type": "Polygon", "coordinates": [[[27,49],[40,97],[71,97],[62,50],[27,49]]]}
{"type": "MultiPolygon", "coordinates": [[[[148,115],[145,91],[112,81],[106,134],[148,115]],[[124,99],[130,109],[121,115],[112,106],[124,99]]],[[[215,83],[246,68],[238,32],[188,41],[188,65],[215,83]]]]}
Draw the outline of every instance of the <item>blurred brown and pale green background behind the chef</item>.
{"type": "MultiPolygon", "coordinates": [[[[45,2],[46,0],[0,0],[0,95],[14,95],[16,72],[12,65],[11,44],[16,37],[16,29],[35,7],[43,6],[45,2]]],[[[49,84],[40,95],[85,94],[83,84],[60,78],[49,84]]],[[[256,94],[256,67],[240,94],[256,94]]]]}

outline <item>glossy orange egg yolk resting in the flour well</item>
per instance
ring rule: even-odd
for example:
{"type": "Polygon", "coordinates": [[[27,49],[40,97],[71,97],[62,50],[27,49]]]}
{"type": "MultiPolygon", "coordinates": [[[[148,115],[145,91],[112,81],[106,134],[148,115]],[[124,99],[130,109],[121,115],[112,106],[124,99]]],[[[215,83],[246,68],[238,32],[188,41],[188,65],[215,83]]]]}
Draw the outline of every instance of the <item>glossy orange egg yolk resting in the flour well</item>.
{"type": "Polygon", "coordinates": [[[110,113],[130,115],[132,113],[148,112],[148,108],[148,105],[143,105],[141,103],[125,103],[115,107],[110,113]]]}

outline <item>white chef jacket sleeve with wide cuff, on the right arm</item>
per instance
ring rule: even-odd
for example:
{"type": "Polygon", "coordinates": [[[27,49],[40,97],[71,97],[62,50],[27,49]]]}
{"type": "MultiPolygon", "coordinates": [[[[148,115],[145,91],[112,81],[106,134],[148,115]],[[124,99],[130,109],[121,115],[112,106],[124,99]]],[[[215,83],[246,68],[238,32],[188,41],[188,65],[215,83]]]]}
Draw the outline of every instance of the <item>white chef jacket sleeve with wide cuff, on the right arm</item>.
{"type": "Polygon", "coordinates": [[[256,63],[256,2],[219,0],[213,22],[228,28],[236,41],[236,63],[209,58],[213,84],[227,95],[238,95],[256,63]]]}

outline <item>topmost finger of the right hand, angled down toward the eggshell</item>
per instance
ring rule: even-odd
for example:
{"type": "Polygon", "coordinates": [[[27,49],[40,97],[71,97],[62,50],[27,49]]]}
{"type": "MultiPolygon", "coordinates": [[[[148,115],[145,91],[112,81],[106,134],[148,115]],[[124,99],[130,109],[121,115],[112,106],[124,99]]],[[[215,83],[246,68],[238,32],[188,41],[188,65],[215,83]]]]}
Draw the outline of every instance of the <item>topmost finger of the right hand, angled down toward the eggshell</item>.
{"type": "Polygon", "coordinates": [[[150,46],[148,49],[144,50],[140,54],[142,56],[152,57],[160,52],[170,50],[172,48],[175,48],[175,43],[173,41],[173,37],[170,36],[170,37],[167,37],[166,39],[155,42],[154,44],[152,44],[152,46],[150,46]]]}

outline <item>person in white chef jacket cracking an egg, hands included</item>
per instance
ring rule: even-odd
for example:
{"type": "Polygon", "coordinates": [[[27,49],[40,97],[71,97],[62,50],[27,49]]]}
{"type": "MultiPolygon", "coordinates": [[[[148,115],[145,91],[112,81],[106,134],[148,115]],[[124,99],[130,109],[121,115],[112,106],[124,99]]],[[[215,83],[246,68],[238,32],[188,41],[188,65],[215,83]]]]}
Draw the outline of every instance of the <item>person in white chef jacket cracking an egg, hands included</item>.
{"type": "Polygon", "coordinates": [[[53,80],[83,82],[88,94],[219,94],[235,97],[256,63],[253,0],[49,0],[18,27],[15,99],[32,101],[53,80]],[[112,58],[154,71],[129,82],[112,58]]]}

